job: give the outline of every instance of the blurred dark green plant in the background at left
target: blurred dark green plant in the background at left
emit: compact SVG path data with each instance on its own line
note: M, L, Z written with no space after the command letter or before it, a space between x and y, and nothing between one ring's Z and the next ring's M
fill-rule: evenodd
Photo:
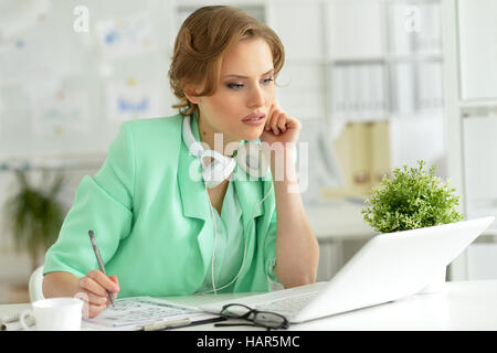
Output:
M64 179L56 174L50 182L49 173L44 171L42 185L36 189L30 184L27 170L17 169L14 172L19 188L6 201L6 218L14 236L15 250L30 254L34 271L40 253L44 254L55 242L65 217L65 207L57 200Z

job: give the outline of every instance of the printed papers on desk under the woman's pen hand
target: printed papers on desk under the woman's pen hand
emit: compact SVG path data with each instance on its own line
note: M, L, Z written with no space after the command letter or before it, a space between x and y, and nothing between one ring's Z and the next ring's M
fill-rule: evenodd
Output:
M191 322L216 318L195 307L180 306L163 299L133 297L116 300L115 307L106 308L84 324L104 330L140 330L144 325L190 319Z

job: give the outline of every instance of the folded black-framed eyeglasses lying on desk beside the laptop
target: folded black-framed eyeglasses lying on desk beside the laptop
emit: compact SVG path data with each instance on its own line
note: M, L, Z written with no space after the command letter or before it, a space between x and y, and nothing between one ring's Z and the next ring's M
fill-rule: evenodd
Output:
M288 329L289 322L284 315L271 311L258 311L244 304L231 303L221 310L224 318L243 319L252 323L215 323L214 327L251 325L267 330Z

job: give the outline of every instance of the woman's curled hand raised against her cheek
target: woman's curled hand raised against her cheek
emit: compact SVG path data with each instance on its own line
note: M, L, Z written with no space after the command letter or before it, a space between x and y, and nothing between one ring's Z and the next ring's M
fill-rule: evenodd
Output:
M266 126L261 135L261 142L297 142L302 124L284 111L275 100L267 113Z

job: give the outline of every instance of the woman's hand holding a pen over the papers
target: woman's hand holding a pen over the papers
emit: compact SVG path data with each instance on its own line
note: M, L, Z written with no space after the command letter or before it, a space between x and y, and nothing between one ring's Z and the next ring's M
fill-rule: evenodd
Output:
M88 318L95 318L112 303L107 290L114 293L114 298L117 297L120 289L116 276L107 277L99 270L92 270L77 280L77 292L83 292L78 297L83 297L81 299L85 302L84 315L87 313Z

